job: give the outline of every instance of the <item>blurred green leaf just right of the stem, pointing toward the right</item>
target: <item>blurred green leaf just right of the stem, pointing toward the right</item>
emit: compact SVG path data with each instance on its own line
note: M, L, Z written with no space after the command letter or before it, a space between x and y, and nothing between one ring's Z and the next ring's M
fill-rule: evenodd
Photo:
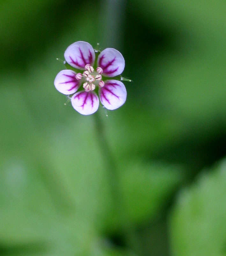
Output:
M154 219L183 178L180 166L126 160L120 163L117 216L108 216L113 229ZM115 220L115 221L114 221ZM106 224L108 226L108 224Z

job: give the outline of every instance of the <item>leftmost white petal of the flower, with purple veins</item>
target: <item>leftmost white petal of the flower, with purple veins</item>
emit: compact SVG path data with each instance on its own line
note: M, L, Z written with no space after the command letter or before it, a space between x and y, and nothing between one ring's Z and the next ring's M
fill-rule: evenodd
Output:
M80 86L75 76L76 73L70 69L61 70L54 80L56 90L66 95L75 93Z

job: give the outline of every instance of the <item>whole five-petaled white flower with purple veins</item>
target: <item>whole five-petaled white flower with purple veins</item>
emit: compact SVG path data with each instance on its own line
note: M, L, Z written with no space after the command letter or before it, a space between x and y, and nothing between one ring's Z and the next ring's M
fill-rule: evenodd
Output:
M95 113L99 107L99 98L103 106L110 110L121 107L126 101L125 85L116 79L106 80L106 77L119 76L123 72L125 60L122 54L113 48L106 48L99 53L96 61L95 57L93 47L87 42L78 41L69 45L64 52L66 62L84 72L64 69L54 81L59 92L73 94L71 104L82 115ZM84 90L78 91L80 85Z

